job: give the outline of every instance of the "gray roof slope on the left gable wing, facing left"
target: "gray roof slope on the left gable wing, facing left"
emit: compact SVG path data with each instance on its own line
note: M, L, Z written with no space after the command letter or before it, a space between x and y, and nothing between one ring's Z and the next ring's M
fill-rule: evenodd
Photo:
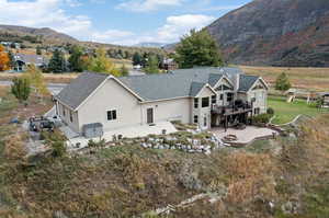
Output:
M76 110L109 74L83 72L69 85L64 88L56 99Z

